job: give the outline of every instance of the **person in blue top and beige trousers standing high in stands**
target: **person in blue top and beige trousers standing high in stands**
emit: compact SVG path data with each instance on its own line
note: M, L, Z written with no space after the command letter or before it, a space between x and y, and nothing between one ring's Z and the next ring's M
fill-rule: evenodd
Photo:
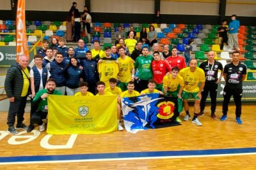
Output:
M239 20L236 20L236 15L231 16L232 21L228 24L228 46L229 50L233 48L237 51L240 51L238 46L237 32L240 27Z

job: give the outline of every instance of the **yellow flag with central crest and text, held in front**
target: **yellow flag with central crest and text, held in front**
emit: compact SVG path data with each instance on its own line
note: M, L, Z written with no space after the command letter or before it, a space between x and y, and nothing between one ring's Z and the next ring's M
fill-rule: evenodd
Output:
M117 96L48 97L49 134L100 134L117 129Z

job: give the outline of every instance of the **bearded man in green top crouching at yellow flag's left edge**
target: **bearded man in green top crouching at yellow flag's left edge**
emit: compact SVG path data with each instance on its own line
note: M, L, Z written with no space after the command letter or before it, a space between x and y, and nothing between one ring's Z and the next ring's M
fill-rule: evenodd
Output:
M55 90L56 88L56 81L53 78L49 78L46 83L46 89L39 90L36 93L31 105L31 125L27 132L31 132L35 127L33 124L39 125L39 131L42 132L45 130L43 119L47 118L48 114L48 104L47 104L47 97L49 94L54 95L61 95L61 92Z

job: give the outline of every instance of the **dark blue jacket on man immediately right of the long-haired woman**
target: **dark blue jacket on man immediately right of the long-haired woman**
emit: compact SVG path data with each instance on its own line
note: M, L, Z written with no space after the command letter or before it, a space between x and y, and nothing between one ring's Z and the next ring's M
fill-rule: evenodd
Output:
M97 82L99 80L99 74L97 72L97 63L94 60L83 59L81 60L81 66L83 66L84 81Z

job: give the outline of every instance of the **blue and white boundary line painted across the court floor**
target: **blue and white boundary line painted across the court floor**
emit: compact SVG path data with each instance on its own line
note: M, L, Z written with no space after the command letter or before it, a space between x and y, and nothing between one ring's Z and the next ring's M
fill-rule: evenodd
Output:
M256 155L256 148L0 157L0 165L97 162L117 160L179 159L195 157L227 157L239 155Z

